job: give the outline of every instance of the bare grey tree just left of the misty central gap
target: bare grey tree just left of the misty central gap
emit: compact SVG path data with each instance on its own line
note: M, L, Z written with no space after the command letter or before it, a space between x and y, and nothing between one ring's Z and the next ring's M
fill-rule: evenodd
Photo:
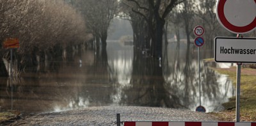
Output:
M102 49L106 48L109 24L115 16L118 1L72 0L71 3L83 14L88 32L95 37L96 48L99 49L100 40Z

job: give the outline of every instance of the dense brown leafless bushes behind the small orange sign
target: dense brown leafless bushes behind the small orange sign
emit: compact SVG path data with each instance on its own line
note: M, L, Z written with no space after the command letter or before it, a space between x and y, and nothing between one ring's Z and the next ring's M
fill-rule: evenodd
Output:
M83 16L61 0L4 0L0 2L0 63L10 59L8 49L3 48L5 38L19 38L20 48L15 51L17 69L40 62L61 58L63 51L72 51L91 37L86 32ZM72 54L69 52L67 54ZM4 69L1 75L6 75Z

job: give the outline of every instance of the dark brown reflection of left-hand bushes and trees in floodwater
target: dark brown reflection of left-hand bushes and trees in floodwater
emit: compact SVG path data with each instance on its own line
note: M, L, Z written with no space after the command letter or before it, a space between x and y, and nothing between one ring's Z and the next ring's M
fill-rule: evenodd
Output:
M104 58L93 63L93 55L87 51L84 56L74 56L71 61L57 62L60 63L58 66L54 63L54 70L49 66L49 69L40 69L36 73L27 72L24 77L13 80L13 87L6 86L6 81L1 83L1 106L10 108L10 94L13 94L13 109L28 113L109 104L111 100L107 94L113 92L113 87L104 81L106 77L102 77L106 74L103 70L107 70L102 61ZM101 68L100 72L95 70L97 67ZM97 73L102 75L99 77Z

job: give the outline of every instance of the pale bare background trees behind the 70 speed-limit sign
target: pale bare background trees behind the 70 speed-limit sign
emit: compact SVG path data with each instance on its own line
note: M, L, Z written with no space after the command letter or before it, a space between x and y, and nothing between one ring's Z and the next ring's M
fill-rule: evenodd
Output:
M228 35L219 24L216 14L216 1L184 1L179 6L176 6L170 18L168 19L174 34L177 35L177 41L180 42L181 30L187 38L187 42L191 43L191 38L195 38L193 28L195 26L203 26L205 28L204 39L208 43L208 49L212 49L213 40L218 35ZM189 44L188 44L189 46Z

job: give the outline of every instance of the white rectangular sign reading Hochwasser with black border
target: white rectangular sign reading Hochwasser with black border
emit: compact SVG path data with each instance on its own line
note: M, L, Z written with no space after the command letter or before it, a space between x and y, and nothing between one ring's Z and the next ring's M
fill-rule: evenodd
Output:
M214 59L216 62L256 63L256 38L216 37Z

